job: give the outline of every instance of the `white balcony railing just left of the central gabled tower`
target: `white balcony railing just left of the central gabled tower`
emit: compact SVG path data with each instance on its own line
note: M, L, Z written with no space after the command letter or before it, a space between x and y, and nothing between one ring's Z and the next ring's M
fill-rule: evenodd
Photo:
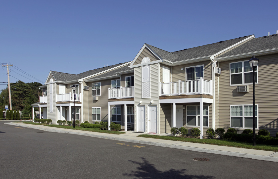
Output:
M134 98L134 86L108 88L108 99Z

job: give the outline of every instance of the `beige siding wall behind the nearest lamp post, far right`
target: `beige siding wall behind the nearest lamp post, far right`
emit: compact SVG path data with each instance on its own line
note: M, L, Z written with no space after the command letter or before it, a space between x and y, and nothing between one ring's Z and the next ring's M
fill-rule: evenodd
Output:
M278 132L278 64L277 54L256 56L258 64L258 84L255 84L255 104L258 104L259 129L266 129L273 136ZM250 57L251 58L251 57ZM230 62L248 61L250 58L220 62L222 75L219 77L220 127L230 127L230 105L252 105L253 86L249 93L237 93L237 86L230 86Z

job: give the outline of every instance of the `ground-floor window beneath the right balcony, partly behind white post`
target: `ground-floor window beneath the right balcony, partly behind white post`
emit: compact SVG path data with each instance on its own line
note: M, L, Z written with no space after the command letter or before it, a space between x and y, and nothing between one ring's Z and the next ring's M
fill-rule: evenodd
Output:
M187 126L200 126L200 105L186 106ZM209 106L203 105L203 126L209 127Z

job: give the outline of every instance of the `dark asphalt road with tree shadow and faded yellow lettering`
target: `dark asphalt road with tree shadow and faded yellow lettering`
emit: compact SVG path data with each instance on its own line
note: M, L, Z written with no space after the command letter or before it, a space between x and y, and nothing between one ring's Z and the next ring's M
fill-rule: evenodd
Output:
M276 162L46 132L4 121L0 141L0 178L5 179L271 179L278 174Z

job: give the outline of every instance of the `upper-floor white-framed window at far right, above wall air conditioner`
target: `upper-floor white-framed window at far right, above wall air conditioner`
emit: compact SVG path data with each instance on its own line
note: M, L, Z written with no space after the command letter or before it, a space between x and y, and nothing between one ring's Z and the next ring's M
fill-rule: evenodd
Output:
M255 83L257 83L257 67L255 68ZM230 63L230 84L243 85L253 83L253 70L249 62Z

